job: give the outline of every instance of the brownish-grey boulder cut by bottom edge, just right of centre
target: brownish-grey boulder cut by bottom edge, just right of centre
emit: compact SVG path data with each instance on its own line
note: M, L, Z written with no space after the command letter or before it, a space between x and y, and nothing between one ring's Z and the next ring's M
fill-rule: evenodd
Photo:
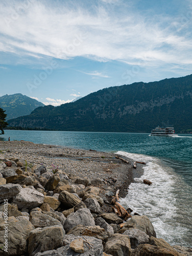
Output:
M129 237L126 234L112 234L107 239L104 251L113 256L130 256L131 244Z

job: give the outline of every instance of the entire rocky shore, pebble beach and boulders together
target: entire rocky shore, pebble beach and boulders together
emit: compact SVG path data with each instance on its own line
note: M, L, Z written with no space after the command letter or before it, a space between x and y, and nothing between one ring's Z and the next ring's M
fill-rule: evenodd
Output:
M118 203L141 163L29 141L2 141L0 153L0 255L192 255Z

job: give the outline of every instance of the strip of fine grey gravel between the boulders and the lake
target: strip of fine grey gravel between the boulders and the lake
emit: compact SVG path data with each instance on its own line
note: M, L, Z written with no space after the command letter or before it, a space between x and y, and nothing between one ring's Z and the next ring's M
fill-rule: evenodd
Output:
M133 160L125 158L129 164L116 159L114 153L106 153L92 150L67 148L57 145L35 144L30 141L1 141L0 150L4 157L16 157L20 161L46 165L47 168L58 166L59 170L70 175L87 179L100 178L104 181L102 194L105 202L109 202L107 191L115 193L119 189L119 196L124 198L128 194L130 183L134 178L143 174L142 165L137 164L134 169ZM121 156L120 156L121 157ZM111 211L111 207L104 206L104 211Z

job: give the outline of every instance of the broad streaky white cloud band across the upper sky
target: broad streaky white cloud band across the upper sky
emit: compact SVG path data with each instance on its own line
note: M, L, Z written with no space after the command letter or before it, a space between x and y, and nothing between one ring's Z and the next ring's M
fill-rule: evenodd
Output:
M121 12L106 5L118 2L122 3L118 6ZM165 13L139 13L129 9L124 1L100 3L93 12L81 1L72 4L64 0L54 5L54 1L2 0L0 51L34 58L84 56L97 61L127 61L132 65L145 55L150 66L158 66L159 61L191 64L190 22L183 24L181 16ZM87 74L108 77L99 72Z

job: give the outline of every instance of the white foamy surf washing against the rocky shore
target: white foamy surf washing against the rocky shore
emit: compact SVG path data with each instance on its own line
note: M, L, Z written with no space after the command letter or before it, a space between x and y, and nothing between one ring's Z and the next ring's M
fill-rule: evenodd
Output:
M117 154L147 163L143 165L144 174L130 184L121 204L148 216L158 238L171 245L191 246L191 187L160 159L121 151ZM144 184L143 179L150 180L152 185Z

